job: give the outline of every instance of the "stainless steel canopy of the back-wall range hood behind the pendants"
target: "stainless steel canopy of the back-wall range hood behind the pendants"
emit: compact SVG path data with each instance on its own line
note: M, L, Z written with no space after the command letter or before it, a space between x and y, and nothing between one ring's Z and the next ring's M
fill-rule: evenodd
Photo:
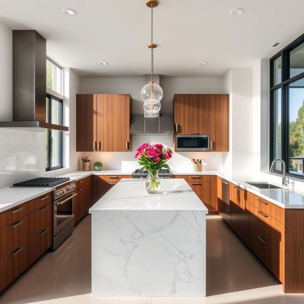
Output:
M158 117L145 117L132 114L130 133L134 135L171 135L174 133L173 115L160 114Z

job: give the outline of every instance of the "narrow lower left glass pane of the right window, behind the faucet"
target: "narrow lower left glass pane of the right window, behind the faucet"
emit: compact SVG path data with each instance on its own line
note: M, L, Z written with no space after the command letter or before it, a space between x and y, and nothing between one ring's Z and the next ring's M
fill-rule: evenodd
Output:
M272 92L272 153L273 159L281 158L282 155L282 89ZM281 171L281 162L275 163L275 170Z

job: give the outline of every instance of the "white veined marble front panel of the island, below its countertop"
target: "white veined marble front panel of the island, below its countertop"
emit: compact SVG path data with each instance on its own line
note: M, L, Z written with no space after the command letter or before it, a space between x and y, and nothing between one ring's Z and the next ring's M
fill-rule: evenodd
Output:
M206 296L205 212L94 212L92 295Z

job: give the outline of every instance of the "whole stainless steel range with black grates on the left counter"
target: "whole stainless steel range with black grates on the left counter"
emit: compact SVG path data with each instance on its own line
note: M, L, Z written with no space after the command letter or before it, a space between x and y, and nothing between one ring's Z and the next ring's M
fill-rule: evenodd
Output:
M74 193L76 184L68 177L35 178L12 185L12 187L50 187L53 209L53 242L55 250L74 231Z

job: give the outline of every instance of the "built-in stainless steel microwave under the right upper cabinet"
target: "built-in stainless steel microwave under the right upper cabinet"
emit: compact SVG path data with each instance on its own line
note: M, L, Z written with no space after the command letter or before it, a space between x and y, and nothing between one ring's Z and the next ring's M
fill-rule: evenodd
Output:
M209 135L178 134L176 135L176 151L209 151Z

